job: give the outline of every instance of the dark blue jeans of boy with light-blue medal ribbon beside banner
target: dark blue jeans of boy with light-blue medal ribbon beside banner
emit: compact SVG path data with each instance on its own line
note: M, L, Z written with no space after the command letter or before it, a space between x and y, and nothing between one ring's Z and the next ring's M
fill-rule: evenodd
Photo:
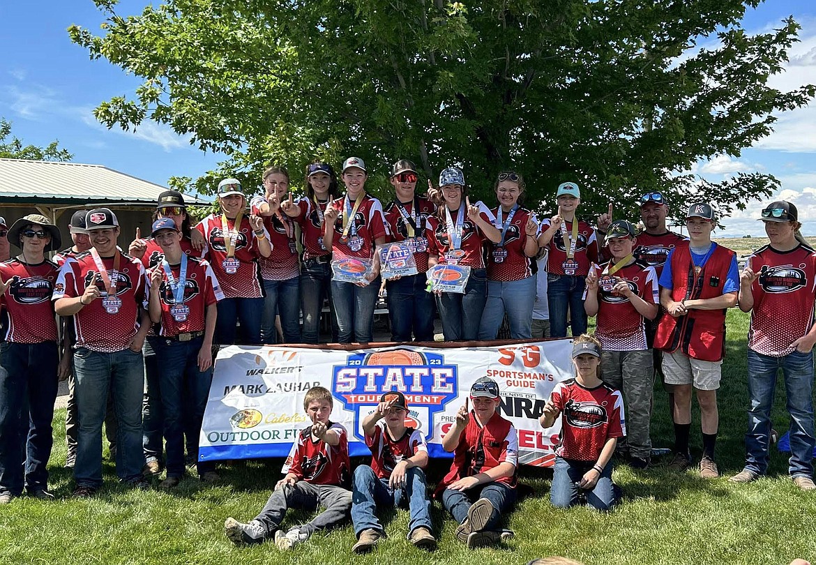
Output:
M198 370L198 352L203 337L190 341L157 340L156 358L162 367L159 387L164 408L164 438L167 452L167 476L184 475L184 433L198 434L212 383L212 368ZM186 401L192 410L185 411ZM214 463L198 463L198 474L215 470Z

